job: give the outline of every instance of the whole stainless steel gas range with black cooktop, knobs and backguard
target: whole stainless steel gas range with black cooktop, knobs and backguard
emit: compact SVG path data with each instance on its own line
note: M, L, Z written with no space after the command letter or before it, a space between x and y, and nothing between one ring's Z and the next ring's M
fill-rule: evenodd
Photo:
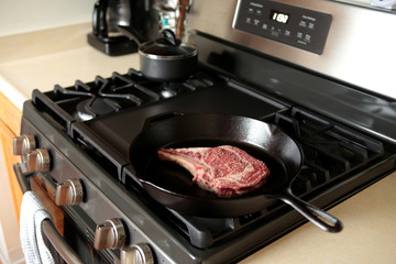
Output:
M395 36L380 26L395 20L332 1L194 1L193 76L156 82L130 69L34 90L15 139L24 157L16 176L26 188L26 178L37 179L62 205L65 240L85 262L238 262L305 219L283 202L227 218L167 209L136 178L132 142L174 112L273 123L304 153L292 191L331 208L395 170L392 69L372 66L395 59ZM380 36L385 47L373 53ZM358 63L362 54L370 65Z

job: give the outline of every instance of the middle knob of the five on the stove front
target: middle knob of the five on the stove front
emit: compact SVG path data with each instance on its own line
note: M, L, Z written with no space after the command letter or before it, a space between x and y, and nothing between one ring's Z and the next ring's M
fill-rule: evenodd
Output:
M68 179L57 184L55 189L55 204L57 206L73 206L82 202L84 190L79 179Z

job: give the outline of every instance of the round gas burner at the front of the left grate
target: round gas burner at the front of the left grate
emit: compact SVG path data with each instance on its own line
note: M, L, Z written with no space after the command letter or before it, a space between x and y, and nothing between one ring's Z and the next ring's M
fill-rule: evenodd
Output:
M76 107L76 119L80 121L88 121L98 116L118 112L121 106L108 98L90 98L79 102Z

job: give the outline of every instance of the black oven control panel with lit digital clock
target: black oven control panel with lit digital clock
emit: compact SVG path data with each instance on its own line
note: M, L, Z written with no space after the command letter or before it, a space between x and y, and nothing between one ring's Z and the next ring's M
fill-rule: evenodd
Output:
M233 28L322 54L332 16L267 0L239 0Z

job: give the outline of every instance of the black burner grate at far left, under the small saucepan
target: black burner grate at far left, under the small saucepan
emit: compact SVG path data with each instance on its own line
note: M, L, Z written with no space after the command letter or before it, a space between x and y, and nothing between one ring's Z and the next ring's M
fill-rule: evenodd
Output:
M178 82L156 82L146 79L143 74L130 69L128 74L113 73L110 78L97 76L94 81L77 80L72 87L56 85L52 91L33 92L33 101L41 105L66 130L75 121L88 121L101 116L119 112L122 109L140 107L164 100L183 92L216 84L219 78L198 70L190 78Z

